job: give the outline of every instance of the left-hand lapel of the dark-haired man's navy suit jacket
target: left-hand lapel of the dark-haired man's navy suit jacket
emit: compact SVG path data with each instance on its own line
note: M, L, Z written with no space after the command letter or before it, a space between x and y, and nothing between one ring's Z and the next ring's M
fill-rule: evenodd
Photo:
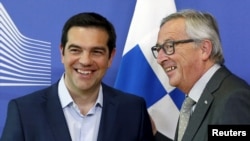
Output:
M66 119L58 97L58 83L52 85L46 93L47 102L44 111L47 114L48 123L51 127L55 141L71 141Z

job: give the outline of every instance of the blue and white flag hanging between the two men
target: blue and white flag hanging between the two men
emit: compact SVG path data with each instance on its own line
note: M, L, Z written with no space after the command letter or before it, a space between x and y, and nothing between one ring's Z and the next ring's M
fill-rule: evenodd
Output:
M174 0L137 0L115 87L145 98L159 132L174 138L184 95L168 84L153 57L163 17L176 11Z

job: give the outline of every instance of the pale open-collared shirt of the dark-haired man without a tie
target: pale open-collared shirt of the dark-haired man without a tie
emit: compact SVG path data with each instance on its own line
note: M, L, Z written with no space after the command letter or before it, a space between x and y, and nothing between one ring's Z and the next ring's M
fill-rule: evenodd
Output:
M81 114L70 96L64 83L64 75L59 81L58 92L72 141L96 141L103 106L102 86L100 86L96 103L86 115Z

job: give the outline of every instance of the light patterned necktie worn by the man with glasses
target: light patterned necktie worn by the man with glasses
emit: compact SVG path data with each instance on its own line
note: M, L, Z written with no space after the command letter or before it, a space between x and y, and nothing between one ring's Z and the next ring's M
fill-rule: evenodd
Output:
M195 104L195 101L190 97L186 97L184 103L182 104L179 118L179 131L178 131L178 141L182 140L182 136L186 130L188 120L191 114L192 106Z

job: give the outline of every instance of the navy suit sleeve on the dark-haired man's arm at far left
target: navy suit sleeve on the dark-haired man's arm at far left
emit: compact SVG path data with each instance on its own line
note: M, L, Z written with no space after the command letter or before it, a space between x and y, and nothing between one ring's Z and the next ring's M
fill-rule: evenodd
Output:
M8 104L6 122L0 141L24 141L20 114L14 100Z

